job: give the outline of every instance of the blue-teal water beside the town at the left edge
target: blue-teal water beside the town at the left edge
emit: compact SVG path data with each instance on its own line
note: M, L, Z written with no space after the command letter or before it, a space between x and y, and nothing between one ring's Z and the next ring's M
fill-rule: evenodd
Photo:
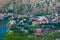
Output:
M4 40L4 37L7 34L7 23L8 19L0 20L0 40Z

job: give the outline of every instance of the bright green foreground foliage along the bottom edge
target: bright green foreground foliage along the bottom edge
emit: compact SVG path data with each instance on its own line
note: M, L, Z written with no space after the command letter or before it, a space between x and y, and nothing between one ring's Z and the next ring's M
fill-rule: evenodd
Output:
M9 33L5 40L56 40L56 38L60 38L59 32L52 32L49 34L39 34L39 35L30 35L29 33L25 32L18 32L14 31Z

